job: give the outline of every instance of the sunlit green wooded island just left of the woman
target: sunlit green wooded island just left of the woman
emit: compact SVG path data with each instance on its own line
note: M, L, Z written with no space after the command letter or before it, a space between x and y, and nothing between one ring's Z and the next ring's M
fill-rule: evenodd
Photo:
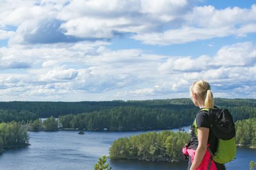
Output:
M186 132L170 130L147 132L138 136L115 140L109 149L111 159L137 159L179 162L183 160L181 148L189 141Z

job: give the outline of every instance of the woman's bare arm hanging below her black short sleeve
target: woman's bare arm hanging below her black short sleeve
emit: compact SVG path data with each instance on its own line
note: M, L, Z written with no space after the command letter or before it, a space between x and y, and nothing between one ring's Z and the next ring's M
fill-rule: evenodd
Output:
M205 151L207 150L207 142L209 136L209 128L197 128L198 147L195 151L195 158L193 160L190 170L196 170L201 164Z

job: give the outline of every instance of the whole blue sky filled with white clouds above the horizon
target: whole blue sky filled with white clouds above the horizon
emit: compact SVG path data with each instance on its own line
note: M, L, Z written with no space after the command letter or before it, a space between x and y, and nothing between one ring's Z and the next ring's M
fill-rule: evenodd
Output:
M256 2L0 0L0 101L256 99Z

